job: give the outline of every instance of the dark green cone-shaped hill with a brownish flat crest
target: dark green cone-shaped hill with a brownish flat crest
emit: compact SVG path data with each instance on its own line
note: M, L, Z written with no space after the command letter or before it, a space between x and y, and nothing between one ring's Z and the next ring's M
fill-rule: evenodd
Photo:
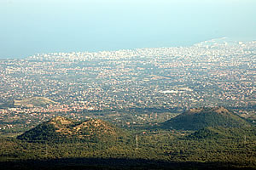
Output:
M204 127L250 127L250 123L224 107L190 109L160 125L166 129L199 130Z

